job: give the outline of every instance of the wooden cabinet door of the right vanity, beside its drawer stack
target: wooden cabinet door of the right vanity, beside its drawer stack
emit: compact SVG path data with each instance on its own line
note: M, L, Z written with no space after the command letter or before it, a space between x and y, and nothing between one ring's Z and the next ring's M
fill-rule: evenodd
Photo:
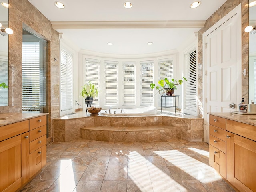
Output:
M256 142L227 132L227 180L240 191L256 191Z

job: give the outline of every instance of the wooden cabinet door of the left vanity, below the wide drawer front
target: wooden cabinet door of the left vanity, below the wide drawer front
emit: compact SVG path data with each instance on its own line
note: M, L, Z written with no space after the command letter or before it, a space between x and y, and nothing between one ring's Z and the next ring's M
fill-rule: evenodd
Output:
M21 187L22 136L0 142L0 191L12 192Z

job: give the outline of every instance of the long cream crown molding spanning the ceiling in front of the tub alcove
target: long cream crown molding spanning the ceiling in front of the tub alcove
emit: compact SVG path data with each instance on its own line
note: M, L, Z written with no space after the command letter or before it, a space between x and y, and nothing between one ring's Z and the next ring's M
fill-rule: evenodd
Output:
M52 21L54 29L203 28L206 21Z

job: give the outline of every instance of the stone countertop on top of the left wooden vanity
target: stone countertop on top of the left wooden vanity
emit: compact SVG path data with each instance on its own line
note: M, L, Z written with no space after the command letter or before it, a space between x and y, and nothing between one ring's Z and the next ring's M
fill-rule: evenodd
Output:
M1 113L0 126L28 120L35 117L48 115L49 113Z

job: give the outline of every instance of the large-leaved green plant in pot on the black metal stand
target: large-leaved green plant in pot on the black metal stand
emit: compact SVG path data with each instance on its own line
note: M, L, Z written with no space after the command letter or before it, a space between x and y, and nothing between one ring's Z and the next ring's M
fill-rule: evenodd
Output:
M178 81L176 79L168 80L168 78L165 78L164 80L161 79L158 81L158 86L156 86L154 83L151 83L150 87L152 89L156 88L159 94L166 93L166 95L172 95L174 94L174 89L177 90L177 85L181 85L183 80L187 81L184 77Z

